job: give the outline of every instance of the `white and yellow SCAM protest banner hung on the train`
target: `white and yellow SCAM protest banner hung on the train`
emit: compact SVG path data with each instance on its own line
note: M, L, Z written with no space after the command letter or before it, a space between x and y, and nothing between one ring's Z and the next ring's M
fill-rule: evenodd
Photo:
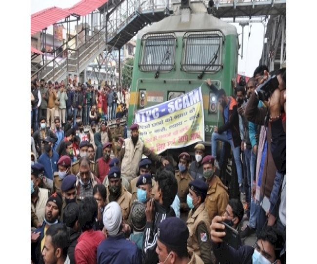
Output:
M170 101L138 110L139 139L156 154L205 138L201 87Z

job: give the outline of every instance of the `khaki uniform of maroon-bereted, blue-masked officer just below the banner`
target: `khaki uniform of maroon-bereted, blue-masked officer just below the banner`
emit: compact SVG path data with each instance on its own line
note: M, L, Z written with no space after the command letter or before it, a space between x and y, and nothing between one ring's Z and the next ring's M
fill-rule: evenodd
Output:
M183 178L180 177L180 172L176 171L175 177L178 184L177 195L180 201L180 218L183 221L186 221L189 212L189 207L187 205L187 195L189 194L188 184L193 180L193 178L190 176L188 171Z

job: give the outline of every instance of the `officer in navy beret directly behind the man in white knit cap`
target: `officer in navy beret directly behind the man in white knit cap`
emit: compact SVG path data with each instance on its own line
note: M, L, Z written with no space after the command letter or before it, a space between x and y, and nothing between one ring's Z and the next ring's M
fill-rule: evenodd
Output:
M127 220L130 213L131 194L124 188L121 172L118 167L112 167L108 174L107 204L116 201L120 205L122 218Z

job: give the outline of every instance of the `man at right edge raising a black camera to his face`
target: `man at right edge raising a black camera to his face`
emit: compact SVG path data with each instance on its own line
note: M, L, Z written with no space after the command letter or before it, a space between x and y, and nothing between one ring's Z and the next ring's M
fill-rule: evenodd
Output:
M267 150L265 154L265 161L264 161L264 166L263 166L263 172L262 172L262 177L261 177L261 187L260 187L260 197L259 197L259 202L261 204L264 196L267 198L271 197L271 193L273 190L274 186L274 181L276 176L280 177L281 175L278 173L275 162L273 160L273 155L271 150L271 144L272 144L272 134L271 134L271 122L268 122L269 120L277 120L281 119L282 126L284 131L286 131L286 116L284 113L284 92L286 90L286 69L278 69L277 71L273 72L271 75L276 75L277 77L277 82L278 85L276 88L272 88L272 84L274 82L269 82L266 83L266 87L270 87L271 89L277 89L277 92L279 91L280 93L280 100L275 104L275 110L274 112L270 112L271 109L273 110L273 104L271 104L269 101L264 102L264 104L267 105L267 108L258 108L258 102L259 102L259 97L261 99L265 98L263 96L263 87L259 86L256 91L254 91L249 99L249 102L246 105L246 108L244 110L244 115L247 118L248 121L251 121L253 123L262 125L262 126L269 126L269 128L266 129L266 142L267 142ZM268 72L265 70L264 71L264 76L261 80L259 80L259 84L263 84L267 79L269 78ZM271 79L272 80L272 79ZM271 85L271 86L270 86ZM278 114L278 110L280 111ZM273 114L278 114L278 115L273 115ZM277 207L276 207L277 208ZM266 221L266 212L262 207L259 207L258 210L258 217L257 217L257 234L259 234L259 231L263 227L264 223ZM269 220L269 223L271 220Z

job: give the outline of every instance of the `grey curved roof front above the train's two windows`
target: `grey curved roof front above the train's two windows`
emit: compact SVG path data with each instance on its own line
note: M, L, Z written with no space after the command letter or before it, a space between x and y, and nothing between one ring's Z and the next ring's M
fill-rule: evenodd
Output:
M171 15L166 17L161 21L140 30L137 38L141 39L146 33L152 32L176 32L177 36L183 36L183 33L177 34L177 32L206 30L220 30L225 36L237 35L237 28L234 25L223 22L222 20L207 13L191 14L189 22L181 22L180 20L180 15Z

